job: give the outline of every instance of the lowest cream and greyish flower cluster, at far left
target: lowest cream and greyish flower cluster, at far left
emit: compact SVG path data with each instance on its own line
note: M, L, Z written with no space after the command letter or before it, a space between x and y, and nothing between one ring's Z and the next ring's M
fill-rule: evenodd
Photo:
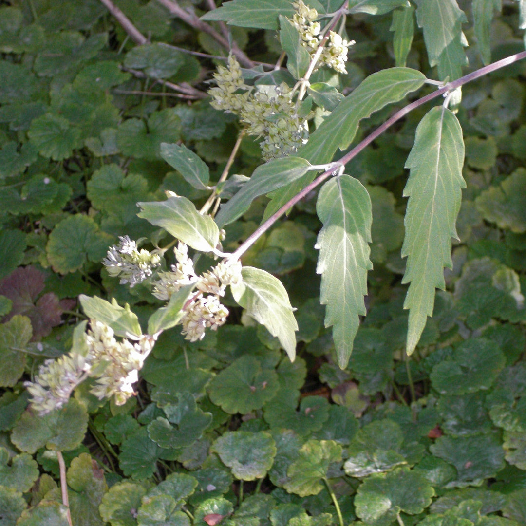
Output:
M144 335L137 343L114 338L113 330L100 321L90 321L85 356L70 352L57 360L46 360L34 382L24 382L31 394L31 406L46 414L64 406L75 387L88 377L97 378L91 392L100 400L115 396L122 405L134 394L131 387L138 380L138 370L154 346L155 339Z

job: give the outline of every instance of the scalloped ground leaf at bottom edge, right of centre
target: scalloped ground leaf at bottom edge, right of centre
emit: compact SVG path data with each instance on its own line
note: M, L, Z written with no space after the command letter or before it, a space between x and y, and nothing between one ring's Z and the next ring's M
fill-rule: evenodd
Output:
M434 490L420 473L398 468L368 477L355 497L356 514L367 524L387 526L401 511L422 513L431 504Z

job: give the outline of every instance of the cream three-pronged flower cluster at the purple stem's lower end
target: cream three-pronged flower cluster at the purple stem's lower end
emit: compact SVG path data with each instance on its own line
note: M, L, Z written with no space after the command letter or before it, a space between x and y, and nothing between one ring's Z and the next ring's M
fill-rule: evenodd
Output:
M170 272L159 272L153 294L156 298L168 301L181 287L195 282L197 292L185 305L181 332L187 340L201 340L207 328L217 330L225 323L228 309L221 304L219 298L225 295L227 285L235 285L241 281L241 263L219 263L203 275L197 276L193 261L188 258L188 247L179 242L174 252L177 264L171 266Z

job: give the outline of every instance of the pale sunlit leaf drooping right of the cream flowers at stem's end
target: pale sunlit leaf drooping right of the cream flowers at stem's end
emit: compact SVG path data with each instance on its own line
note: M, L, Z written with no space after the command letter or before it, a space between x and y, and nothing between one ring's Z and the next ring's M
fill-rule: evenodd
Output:
M272 336L277 336L289 358L294 360L298 324L285 287L278 278L259 268L243 267L241 276L243 281L239 285L230 286L234 299Z

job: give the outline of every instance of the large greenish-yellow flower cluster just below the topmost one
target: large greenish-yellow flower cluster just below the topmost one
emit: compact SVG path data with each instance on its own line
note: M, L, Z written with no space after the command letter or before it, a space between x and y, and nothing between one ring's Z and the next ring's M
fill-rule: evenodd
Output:
M211 105L236 113L248 124L250 135L264 137L261 149L266 160L293 154L307 142L307 120L298 115L292 89L285 83L246 85L233 55L228 57L228 68L219 66L214 78L217 87L208 92L214 98Z

